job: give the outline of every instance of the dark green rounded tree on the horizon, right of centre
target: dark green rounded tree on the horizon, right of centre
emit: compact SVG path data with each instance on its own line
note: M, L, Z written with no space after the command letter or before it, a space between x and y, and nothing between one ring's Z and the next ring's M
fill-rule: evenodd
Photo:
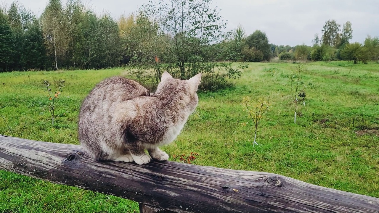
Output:
M263 55L263 60L270 60L270 44L268 43L266 33L263 33L260 30L254 31L253 34L246 38L246 44L249 48L254 48L255 51L260 51Z

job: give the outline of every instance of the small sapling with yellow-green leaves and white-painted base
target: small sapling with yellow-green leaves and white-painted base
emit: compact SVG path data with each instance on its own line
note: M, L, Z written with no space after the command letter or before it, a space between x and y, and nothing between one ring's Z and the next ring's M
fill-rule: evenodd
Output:
M265 99L261 98L258 100L258 103L254 104L253 101L251 101L250 97L244 97L243 105L245 110L249 113L250 118L252 119L254 123L254 142L253 146L258 145L256 139L257 139L257 130L258 130L258 124L260 120L262 119L262 115L268 110L270 107L270 104Z

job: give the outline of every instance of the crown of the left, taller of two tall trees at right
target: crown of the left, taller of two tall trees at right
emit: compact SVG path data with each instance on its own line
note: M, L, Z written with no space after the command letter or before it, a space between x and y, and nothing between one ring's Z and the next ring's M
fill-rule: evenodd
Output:
M330 47L338 47L341 42L340 37L340 27L335 20L327 20L323 27L322 41L323 44L329 45Z

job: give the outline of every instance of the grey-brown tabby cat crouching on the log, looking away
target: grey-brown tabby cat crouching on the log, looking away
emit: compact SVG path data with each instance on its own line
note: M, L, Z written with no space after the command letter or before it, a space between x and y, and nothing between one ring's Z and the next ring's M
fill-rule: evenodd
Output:
M174 141L199 98L201 73L188 80L164 72L155 93L121 76L106 78L81 103L78 138L94 160L168 160L159 146ZM145 153L147 149L149 155Z

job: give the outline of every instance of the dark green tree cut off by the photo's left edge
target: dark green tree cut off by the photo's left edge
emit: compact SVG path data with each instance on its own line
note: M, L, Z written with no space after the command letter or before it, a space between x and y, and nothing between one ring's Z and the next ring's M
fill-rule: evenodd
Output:
M0 71L9 69L13 63L13 35L8 18L0 10Z

